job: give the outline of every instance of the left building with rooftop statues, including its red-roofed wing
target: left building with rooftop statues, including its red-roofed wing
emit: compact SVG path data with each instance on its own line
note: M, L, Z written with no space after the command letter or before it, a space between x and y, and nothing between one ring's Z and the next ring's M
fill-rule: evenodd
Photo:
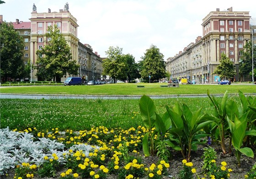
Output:
M60 32L63 34L68 45L71 47L72 60L77 64L80 64L79 75L80 77L93 79L94 74L96 79L101 79L102 74L102 59L95 52L92 52L90 45L83 45L79 42L77 37L78 24L74 16L69 12L69 5L66 4L64 9L59 12L48 12L38 13L37 8L33 5L31 18L29 22L23 22L16 19L13 22L14 28L20 33L25 41L25 52L24 52L24 63L27 64L30 60L32 62L32 81L37 81L37 55L38 49L44 47L48 39L46 33L48 26L57 25ZM94 70L92 70L92 63ZM93 73L92 73L93 71ZM67 77L74 76L72 74L66 75ZM64 81L65 77L61 79ZM86 80L86 79L85 79Z

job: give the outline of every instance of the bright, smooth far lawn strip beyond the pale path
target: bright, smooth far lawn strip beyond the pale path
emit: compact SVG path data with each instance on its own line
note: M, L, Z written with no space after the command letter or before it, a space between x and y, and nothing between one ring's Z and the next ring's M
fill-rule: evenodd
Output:
M144 88L137 88L144 85ZM0 93L15 94L59 94L59 95L181 95L181 94L236 94L238 90L243 93L255 93L256 85L188 85L180 84L179 88L163 88L162 84L104 84L104 85L82 85L82 86L29 86L0 88Z

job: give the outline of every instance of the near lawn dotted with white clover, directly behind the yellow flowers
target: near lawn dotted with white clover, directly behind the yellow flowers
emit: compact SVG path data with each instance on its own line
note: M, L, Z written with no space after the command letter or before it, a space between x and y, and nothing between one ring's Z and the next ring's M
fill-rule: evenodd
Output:
M219 98L218 98L219 99ZM158 114L174 102L187 104L192 112L203 106L203 112L213 112L209 98L171 98L154 100ZM107 128L143 126L139 114L139 100L1 100L1 128L24 130L37 127L38 130L72 129L75 131L91 129L92 126Z

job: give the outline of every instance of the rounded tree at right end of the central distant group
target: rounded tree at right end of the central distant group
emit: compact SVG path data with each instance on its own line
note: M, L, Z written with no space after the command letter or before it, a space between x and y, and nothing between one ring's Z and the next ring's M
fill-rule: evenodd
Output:
M141 59L140 75L142 78L149 79L150 75L150 80L154 81L166 77L164 55L155 45L152 44Z

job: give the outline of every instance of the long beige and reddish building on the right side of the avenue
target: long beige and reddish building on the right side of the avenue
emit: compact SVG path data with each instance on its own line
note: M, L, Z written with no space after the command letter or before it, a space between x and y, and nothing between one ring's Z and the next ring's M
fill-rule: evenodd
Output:
M203 18L203 37L167 59L166 69L172 79L187 78L197 83L213 83L219 76L212 74L220 63L221 53L225 53L233 62L236 75L231 80L245 80L239 76L240 51L251 39L250 18L248 11L210 12Z

